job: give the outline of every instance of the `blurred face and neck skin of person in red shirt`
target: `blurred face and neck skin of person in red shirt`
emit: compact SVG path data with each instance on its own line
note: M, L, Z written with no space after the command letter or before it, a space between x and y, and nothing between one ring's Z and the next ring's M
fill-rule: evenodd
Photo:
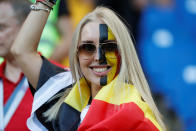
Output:
M12 6L9 3L0 3L0 56L6 59L4 74L12 82L18 81L21 73L10 53L10 48L20 27Z

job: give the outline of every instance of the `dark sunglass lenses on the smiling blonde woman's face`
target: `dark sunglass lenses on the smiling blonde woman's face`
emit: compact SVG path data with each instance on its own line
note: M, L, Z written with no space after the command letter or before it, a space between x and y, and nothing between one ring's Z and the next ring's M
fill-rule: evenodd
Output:
M94 44L82 44L78 47L78 53L93 54L96 52L96 46ZM116 42L101 43L100 48L104 52L115 52L118 51Z

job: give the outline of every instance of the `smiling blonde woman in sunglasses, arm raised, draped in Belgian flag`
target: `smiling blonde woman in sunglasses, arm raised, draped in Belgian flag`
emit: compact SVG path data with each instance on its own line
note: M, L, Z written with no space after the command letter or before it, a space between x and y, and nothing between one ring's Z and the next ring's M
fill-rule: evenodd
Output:
M165 130L127 27L110 9L98 7L80 21L70 48L71 73L37 54L54 3L38 0L31 7L12 47L36 89L29 129Z

